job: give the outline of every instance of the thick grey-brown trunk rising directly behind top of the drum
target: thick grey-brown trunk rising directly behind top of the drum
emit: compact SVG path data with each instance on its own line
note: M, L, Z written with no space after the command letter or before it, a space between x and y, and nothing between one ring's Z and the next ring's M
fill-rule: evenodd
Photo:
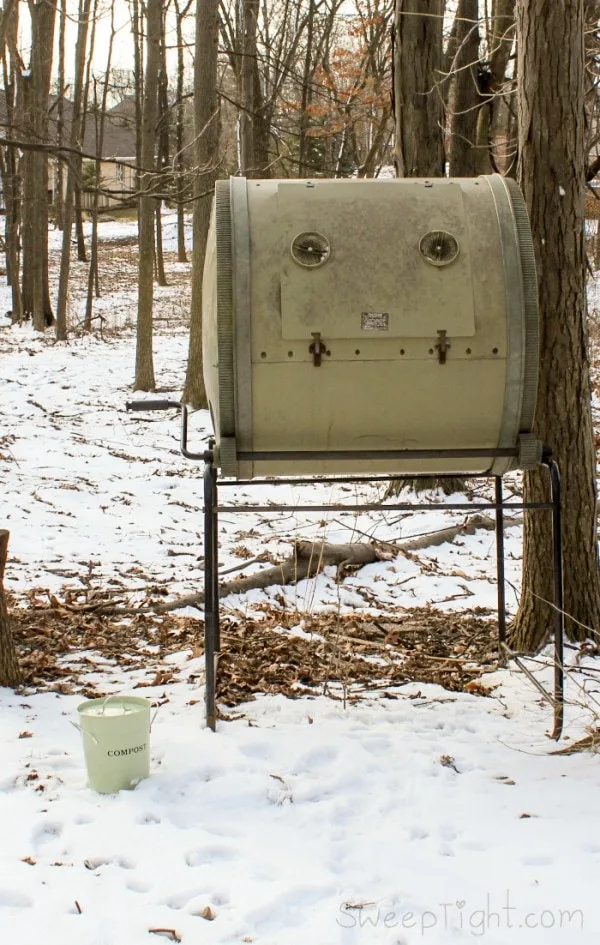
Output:
M396 0L394 99L398 177L444 173L443 0Z

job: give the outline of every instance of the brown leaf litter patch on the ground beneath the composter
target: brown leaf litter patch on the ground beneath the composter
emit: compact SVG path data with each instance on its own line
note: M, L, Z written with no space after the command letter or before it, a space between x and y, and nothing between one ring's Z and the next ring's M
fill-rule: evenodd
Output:
M99 596L96 591L95 600ZM13 602L11 618L27 691L100 697L105 694L102 679L116 671L135 671L138 680L141 675L137 687L163 686L176 682L179 671L165 662L167 657L203 654L200 619L100 615L85 592L62 602L31 592L26 606ZM218 700L230 707L260 693L292 698L323 693L353 700L409 682L484 696L489 690L480 677L496 668L496 633L495 622L481 608L443 613L421 607L385 617L264 608L254 615L224 617Z

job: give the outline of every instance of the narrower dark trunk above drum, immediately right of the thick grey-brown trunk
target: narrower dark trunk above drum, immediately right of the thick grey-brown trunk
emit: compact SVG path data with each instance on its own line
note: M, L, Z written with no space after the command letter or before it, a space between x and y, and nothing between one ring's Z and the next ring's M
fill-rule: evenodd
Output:
M457 52L454 60L450 177L477 174L479 97L479 0L459 0L456 11Z

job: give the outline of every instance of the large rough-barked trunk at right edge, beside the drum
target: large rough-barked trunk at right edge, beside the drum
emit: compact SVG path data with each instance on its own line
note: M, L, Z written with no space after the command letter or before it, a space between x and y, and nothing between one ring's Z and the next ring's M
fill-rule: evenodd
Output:
M552 447L562 474L565 611L573 618L567 630L584 639L600 626L600 580L585 298L581 0L518 0L517 45L519 179L531 217L541 316L535 433ZM527 474L525 501L546 500L544 486L543 474ZM552 600L551 562L549 515L529 515L514 626L519 650L538 650L552 626L544 603Z

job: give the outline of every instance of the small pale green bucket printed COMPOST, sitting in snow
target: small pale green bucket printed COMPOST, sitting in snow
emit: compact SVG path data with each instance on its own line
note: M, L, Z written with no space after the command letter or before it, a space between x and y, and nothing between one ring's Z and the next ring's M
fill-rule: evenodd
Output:
M138 696L89 699L77 706L92 790L116 794L148 777L150 708L151 703Z

